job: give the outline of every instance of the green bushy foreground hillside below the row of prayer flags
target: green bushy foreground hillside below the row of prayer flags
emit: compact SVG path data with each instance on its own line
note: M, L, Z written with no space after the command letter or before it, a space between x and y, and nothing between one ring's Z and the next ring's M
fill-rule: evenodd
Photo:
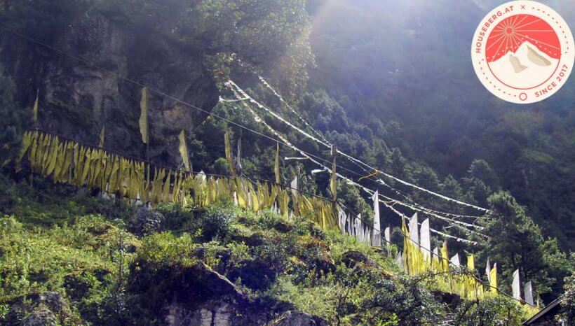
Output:
M0 183L3 325L164 325L212 312L229 325L284 325L294 311L330 325L526 317L501 296L477 304L436 292L431 276L400 271L395 247L370 248L303 218L226 203L149 210L38 178Z

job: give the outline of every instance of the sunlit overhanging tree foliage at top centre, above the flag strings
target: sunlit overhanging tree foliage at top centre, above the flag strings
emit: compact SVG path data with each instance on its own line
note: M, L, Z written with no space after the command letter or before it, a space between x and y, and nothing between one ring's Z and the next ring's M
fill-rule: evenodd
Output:
M304 0L91 2L107 17L196 50L219 83L234 66L269 71L295 92L305 85L306 66L313 62Z

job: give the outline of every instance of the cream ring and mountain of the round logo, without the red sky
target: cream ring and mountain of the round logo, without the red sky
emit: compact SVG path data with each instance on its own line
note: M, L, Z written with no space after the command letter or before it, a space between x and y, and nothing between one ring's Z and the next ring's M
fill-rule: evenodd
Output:
M514 15L533 15L552 27L561 45L560 58L548 56L534 45L536 40L528 39L487 62L487 39L499 22ZM575 45L567 22L555 10L535 1L510 1L480 22L473 34L471 57L475 73L489 92L515 104L532 104L552 96L565 84L575 62Z

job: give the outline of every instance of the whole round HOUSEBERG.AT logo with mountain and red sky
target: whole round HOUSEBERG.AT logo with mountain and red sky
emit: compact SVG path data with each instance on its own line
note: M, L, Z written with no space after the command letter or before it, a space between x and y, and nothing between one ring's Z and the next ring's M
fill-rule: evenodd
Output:
M480 22L471 58L489 92L505 101L531 104L565 84L575 62L575 45L569 26L555 10L535 1L511 1Z

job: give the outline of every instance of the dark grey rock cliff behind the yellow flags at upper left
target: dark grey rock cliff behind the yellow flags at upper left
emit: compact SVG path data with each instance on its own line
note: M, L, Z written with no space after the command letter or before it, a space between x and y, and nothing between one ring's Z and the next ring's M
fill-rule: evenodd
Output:
M0 40L0 65L15 80L22 108L32 107L39 90L41 129L97 144L105 126L107 148L144 157L142 87L127 78L150 87L151 160L172 165L181 160L177 134L189 134L206 115L170 97L206 111L217 104L215 82L203 71L203 49L169 36L90 13L54 35L50 45L88 63L11 34Z

